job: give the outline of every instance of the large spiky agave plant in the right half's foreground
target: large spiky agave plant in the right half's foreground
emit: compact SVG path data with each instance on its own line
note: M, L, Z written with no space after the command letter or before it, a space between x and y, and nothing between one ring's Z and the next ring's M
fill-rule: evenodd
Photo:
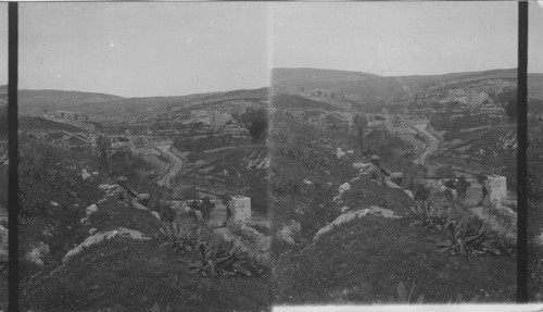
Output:
M451 254L501 254L496 234L476 216L460 217L446 226L449 238L438 242L438 250Z

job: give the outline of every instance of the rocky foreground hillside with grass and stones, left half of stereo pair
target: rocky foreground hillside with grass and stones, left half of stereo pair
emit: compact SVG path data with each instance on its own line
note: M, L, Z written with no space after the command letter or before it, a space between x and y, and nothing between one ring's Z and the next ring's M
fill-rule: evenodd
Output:
M21 145L24 309L269 309L268 264L258 245L265 238L256 229L215 234L198 214L176 213L164 204L167 191L146 174L153 166L129 151L108 157L104 170L88 151L26 135ZM118 197L119 175L134 191L150 194L147 207Z

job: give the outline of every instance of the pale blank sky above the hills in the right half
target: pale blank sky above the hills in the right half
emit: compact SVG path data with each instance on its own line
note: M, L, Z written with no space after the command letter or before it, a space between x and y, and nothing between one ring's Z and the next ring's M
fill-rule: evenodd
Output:
M276 67L386 76L517 67L518 5L514 1L273 7ZM543 73L543 63L532 65Z

